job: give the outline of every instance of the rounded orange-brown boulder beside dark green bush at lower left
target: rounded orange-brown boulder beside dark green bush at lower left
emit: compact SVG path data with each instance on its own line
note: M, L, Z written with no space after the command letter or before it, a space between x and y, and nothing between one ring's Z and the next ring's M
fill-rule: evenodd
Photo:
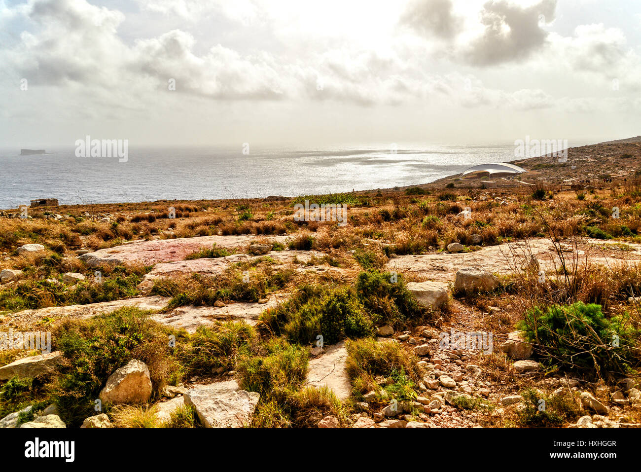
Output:
M149 369L140 360L130 360L107 379L99 398L103 403L143 403L151 396Z

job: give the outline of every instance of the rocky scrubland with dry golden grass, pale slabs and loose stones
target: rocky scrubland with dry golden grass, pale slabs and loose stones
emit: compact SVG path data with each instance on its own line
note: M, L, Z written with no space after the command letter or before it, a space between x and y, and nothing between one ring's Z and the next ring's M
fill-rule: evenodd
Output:
M635 147L633 140L573 148L570 160L593 162L603 157L599 153L622 152L637 158ZM65 423L69 406L45 393L78 362L77 352L58 344L55 333L99 333L104 326L91 323L129 307L146 310L140 313L158 326L153 329L165 330L160 332L171 349L178 342L203 350L190 355L206 367L181 365L171 374L158 367L151 348L135 344L138 350L122 357L127 362L103 377L94 366L99 394L85 401L99 401L104 410L87 415L81 427L179 427L185 411L193 417L181 416L189 426L180 427L641 426L638 357L626 361L626 372L574 369L546 358L549 346L515 327L534 306L597 302L607 319L629 316L632 331L625 336L638 339L639 299L634 290L628 293L641 282L641 194L635 188L619 182L617 189L595 189L587 198L561 188L542 196L520 187L371 192L353 203L346 227L292 223L294 202L279 198L190 208L195 204L176 203L185 208L174 221L162 217L158 207L164 203L155 210L133 204L61 208L27 221L4 212L0 334L53 330L54 350L6 350L0 358L0 426L80 426ZM610 216L615 206L621 210L617 221ZM373 344L347 335L315 341L317 333L326 339L333 334L314 323L326 326L324 310L351 296L352 289L341 290L358 287L363 274L399 283L394 290L406 291L420 316L395 315L403 310L394 298L398 292L374 301L362 296L358 303L366 308L360 313L374 323L363 339ZM570 293L568 284L574 284L571 296L562 298L561 292ZM317 309L308 299L299 301L301 287L336 291L312 296L326 303L320 315L304 321L318 331L310 338L303 326L294 339L296 319L285 323L276 316L307 313L303 302ZM341 313L361 310L350 300L340 305ZM194 344L203 327L213 337L238 331L231 341L216 338L220 344L212 349ZM463 344L444 342L460 335ZM111 336L101 342L129 342L122 332ZM247 345L232 349L243 336ZM476 344L470 345L470 336ZM300 369L291 364L269 371L265 384L256 372L276 362L270 356L282 346L274 343L304 360ZM385 355L367 364L367 350L372 359L378 351ZM169 357L178 359L176 352ZM278 423L280 416L287 419Z

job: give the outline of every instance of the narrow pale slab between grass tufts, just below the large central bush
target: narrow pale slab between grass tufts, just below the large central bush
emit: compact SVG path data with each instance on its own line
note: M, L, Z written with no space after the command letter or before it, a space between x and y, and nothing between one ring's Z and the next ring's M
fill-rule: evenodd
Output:
M351 382L345 370L347 362L347 349L345 341L337 342L332 346L324 346L325 353L320 357L310 360L305 386L329 387L340 400L351 395Z

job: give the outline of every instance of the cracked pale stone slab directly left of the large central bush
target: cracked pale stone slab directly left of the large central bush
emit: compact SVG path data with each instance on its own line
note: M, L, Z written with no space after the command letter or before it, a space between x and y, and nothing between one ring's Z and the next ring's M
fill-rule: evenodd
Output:
M267 303L256 302L235 302L224 307L178 307L169 313L161 313L151 316L152 319L173 326L176 329L184 329L188 333L194 333L199 326L212 325L215 321L245 321L249 325L256 325L258 317L267 308L276 307L278 303L287 300L286 296L273 294L269 296Z

